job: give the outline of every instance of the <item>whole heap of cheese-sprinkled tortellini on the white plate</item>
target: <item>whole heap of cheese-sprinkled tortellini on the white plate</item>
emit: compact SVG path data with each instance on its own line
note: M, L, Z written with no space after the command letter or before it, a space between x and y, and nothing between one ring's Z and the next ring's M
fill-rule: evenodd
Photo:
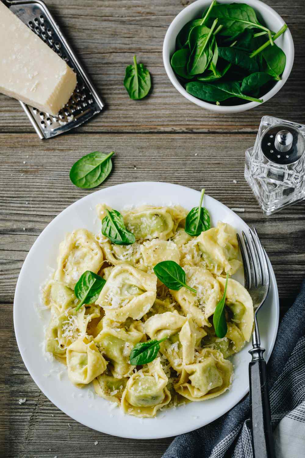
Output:
M101 222L106 209L111 210L96 206ZM42 289L51 316L45 350L67 365L76 387L93 382L97 396L126 414L154 417L160 409L224 393L233 379L228 358L251 337L252 300L232 278L224 338L216 336L213 325L226 274L241 266L235 230L219 221L192 237L185 232L187 213L180 206L151 205L122 211L136 238L131 245L115 245L101 231L75 229L60 243L57 269ZM163 261L179 264L185 284L196 293L163 284L154 273ZM76 311L74 288L86 270L106 283L96 300ZM132 365L134 346L149 339L161 340L156 358Z

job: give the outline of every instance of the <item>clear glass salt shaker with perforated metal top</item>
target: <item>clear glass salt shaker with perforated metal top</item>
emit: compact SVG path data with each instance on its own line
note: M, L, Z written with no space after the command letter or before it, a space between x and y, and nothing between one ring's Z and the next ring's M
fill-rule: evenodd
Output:
M305 199L305 125L263 116L245 178L266 215Z

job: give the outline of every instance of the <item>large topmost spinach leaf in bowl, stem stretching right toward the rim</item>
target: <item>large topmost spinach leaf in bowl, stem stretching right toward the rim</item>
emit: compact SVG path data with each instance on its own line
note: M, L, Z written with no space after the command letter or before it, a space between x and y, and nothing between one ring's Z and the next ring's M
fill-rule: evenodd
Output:
M209 19L218 19L219 24L224 26L220 35L235 37L247 28L260 28L271 36L269 29L258 22L253 8L245 3L214 5Z

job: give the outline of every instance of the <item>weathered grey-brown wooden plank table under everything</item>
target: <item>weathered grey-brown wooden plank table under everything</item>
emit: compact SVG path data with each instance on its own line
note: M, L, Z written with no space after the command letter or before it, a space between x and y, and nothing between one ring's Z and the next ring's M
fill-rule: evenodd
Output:
M69 180L71 165L82 155L96 150L117 152L112 174L102 187L140 180L168 181L197 190L204 186L210 196L228 207L245 208L241 217L255 224L273 264L281 315L292 304L304 278L305 204L266 218L243 175L245 150L254 143L262 115L305 123L304 2L265 2L289 25L295 46L294 68L272 100L232 115L218 115L191 104L166 76L163 38L174 16L189 3L48 1L106 103L101 114L66 135L39 140L19 103L0 94L3 457L155 458L162 456L172 440L127 440L80 425L40 392L16 345L12 303L22 262L47 224L91 192L76 188ZM142 101L129 100L123 87L125 67L132 63L134 54L149 68L153 80L151 95ZM20 405L18 399L24 397L27 401Z

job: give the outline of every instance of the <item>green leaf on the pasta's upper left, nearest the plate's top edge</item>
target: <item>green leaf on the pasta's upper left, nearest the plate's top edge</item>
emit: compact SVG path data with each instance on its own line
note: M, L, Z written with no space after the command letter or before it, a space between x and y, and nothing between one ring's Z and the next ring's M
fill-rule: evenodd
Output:
M102 219L102 234L115 245L132 245L135 236L125 228L123 216L117 210L107 210Z

